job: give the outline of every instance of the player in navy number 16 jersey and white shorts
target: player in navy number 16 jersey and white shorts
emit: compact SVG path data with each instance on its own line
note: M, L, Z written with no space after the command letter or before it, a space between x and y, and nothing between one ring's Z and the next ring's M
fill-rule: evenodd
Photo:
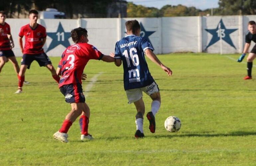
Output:
M125 26L127 36L116 43L115 54L113 55L112 53L111 55L115 57L116 66L120 66L123 63L124 90L129 101L128 103L134 103L137 109L135 137L140 138L144 137L143 116L145 106L142 92L145 92L153 100L151 111L147 113L149 129L152 133L155 132L155 115L161 104L159 88L149 72L145 54L151 61L159 65L168 76L172 75L172 70L160 62L153 53L150 42L146 38L140 37L140 24L137 20L127 21Z

